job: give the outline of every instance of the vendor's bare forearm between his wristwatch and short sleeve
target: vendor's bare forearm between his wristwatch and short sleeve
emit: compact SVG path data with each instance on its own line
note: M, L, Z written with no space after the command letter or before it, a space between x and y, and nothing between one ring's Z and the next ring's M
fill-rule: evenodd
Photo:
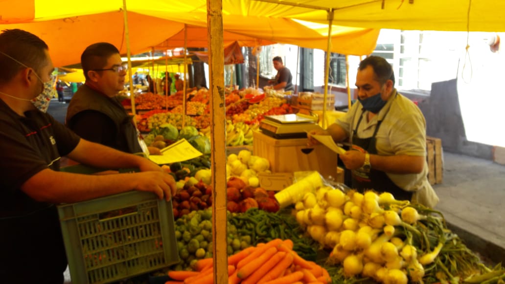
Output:
M372 168L391 174L419 174L423 171L424 156L381 156L370 155Z

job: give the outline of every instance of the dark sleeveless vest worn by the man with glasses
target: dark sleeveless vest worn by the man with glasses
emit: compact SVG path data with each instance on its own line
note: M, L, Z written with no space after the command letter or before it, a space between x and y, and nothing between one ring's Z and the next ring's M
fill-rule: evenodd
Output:
M67 109L67 127L73 130L75 115L81 111L95 110L106 115L116 127L115 145L107 145L117 150L128 153L140 153L142 148L138 143L137 129L123 105L117 98L110 98L101 94L85 84L79 87L72 97ZM90 125L89 127L93 127Z

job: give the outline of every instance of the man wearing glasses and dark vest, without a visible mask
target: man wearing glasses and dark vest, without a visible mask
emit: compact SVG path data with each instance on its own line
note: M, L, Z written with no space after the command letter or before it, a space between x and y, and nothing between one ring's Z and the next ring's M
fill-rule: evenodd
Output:
M124 89L127 65L107 42L89 45L81 55L86 82L72 97L67 127L80 137L127 153L145 152L138 131L117 94Z

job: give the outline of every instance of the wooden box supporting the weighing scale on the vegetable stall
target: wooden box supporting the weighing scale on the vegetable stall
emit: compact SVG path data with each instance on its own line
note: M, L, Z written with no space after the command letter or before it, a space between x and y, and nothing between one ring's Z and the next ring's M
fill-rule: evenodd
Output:
M337 154L324 145L316 145L308 154L307 138L275 139L260 131L254 132L252 152L270 162L273 173L318 171L324 178L339 177Z

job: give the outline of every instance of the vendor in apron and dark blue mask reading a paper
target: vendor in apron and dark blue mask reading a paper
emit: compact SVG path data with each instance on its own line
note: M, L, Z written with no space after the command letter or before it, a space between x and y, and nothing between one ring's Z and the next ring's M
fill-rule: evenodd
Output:
M429 207L438 202L428 182L426 121L421 110L396 92L391 65L378 56L360 63L358 102L325 131L352 146L340 159L352 172L352 188L390 192L398 200ZM311 144L315 144L314 139Z

